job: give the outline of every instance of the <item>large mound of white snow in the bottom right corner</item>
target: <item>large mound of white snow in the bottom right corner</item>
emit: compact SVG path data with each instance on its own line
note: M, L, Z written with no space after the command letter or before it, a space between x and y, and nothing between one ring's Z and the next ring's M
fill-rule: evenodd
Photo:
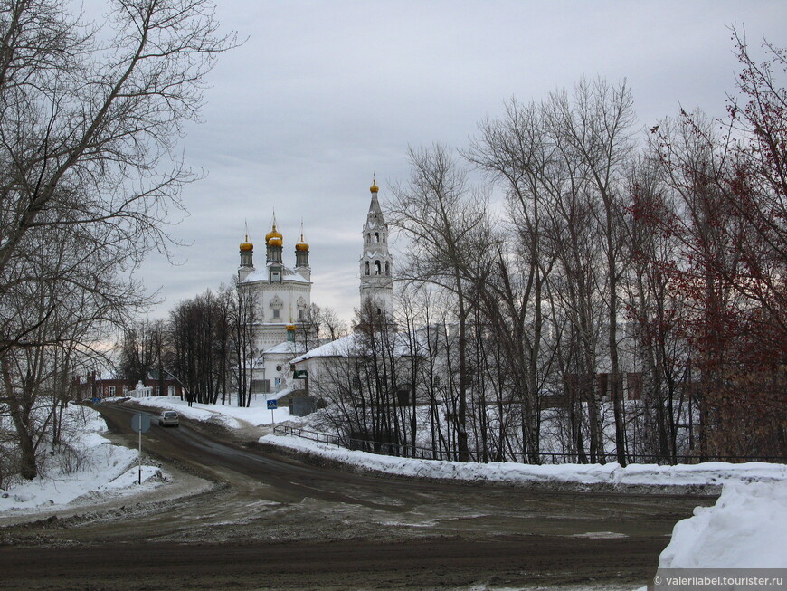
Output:
M725 484L713 507L678 521L659 568L787 566L787 482Z

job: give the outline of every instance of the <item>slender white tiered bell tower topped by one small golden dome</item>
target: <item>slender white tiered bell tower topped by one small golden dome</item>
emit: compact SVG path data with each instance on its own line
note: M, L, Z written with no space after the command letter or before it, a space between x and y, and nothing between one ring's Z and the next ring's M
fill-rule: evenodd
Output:
M373 179L369 191L372 201L364 226L364 250L361 254L361 304L372 300L377 314L391 318L394 313L394 260L388 252L388 224L377 200L379 191Z

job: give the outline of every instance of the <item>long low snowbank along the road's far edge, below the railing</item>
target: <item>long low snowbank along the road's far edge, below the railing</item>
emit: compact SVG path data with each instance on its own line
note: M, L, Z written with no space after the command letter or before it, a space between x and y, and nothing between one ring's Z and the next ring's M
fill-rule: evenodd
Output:
M619 463L531 465L514 462L445 462L414 460L375 453L347 450L337 445L317 443L281 435L265 435L260 443L279 445L299 452L378 472L410 477L489 482L579 482L583 484L705 485L726 482L787 482L787 466L764 462L707 462L697 465L659 466Z

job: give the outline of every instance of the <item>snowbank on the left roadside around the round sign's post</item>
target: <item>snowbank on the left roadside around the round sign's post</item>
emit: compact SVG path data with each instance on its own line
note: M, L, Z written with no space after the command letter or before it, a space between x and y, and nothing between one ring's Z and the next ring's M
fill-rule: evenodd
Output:
M155 488L161 479L156 466L142 466L137 485L137 450L109 443L100 433L107 425L98 412L81 406L68 408L69 420L78 424L79 434L50 458L43 475L0 490L0 516L36 512L69 503L85 503L128 492ZM151 480L152 479L152 480Z

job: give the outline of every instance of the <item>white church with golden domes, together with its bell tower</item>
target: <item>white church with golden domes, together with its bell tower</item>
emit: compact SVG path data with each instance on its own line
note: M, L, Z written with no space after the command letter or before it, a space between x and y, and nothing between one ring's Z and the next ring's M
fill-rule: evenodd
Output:
M378 314L390 317L394 309L394 261L388 250L388 225L377 199L379 187L375 181L369 191L371 203L362 233L360 301L371 300ZM252 392L286 404L303 382L292 378L290 361L311 353L295 338L311 305L311 268L302 228L300 240L295 244L295 266L290 268L283 261L284 237L276 229L275 217L272 226L265 235L265 266L261 269L254 267L254 245L248 235L241 243L238 280L239 289L247 291L255 305L252 333L256 361ZM318 353L319 349L314 352Z

